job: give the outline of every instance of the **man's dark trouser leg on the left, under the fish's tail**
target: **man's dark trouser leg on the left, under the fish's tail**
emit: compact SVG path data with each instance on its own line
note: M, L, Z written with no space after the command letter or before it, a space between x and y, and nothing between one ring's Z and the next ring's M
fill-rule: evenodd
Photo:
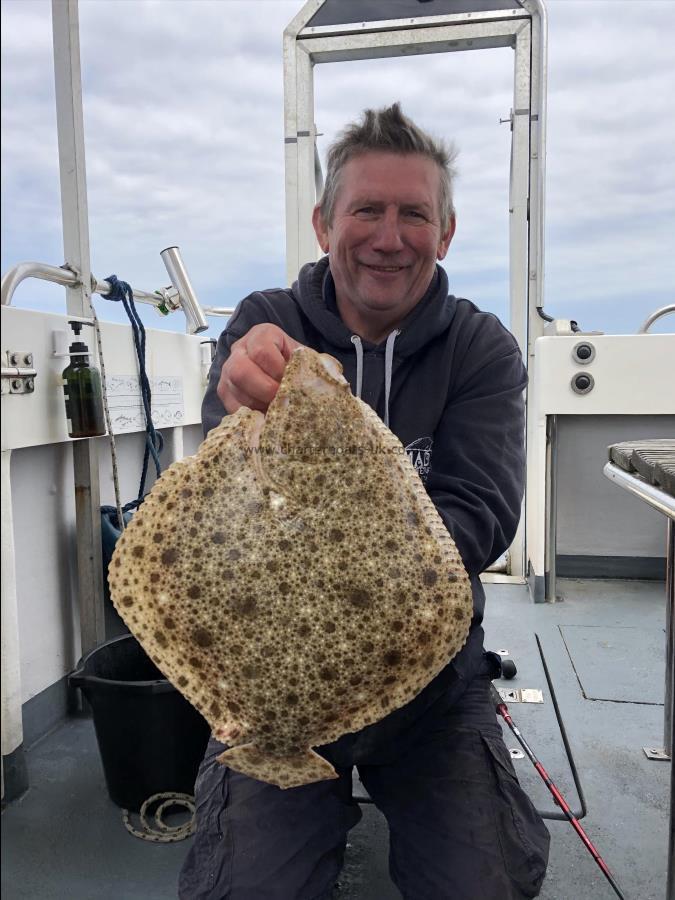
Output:
M197 831L180 900L329 897L347 832L361 815L351 775L282 791L221 766L211 749L195 785Z

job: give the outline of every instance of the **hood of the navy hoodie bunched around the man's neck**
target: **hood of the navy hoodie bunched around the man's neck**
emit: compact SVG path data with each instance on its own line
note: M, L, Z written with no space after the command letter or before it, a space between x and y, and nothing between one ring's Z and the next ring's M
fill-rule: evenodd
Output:
M324 256L316 263L303 266L293 284L293 295L326 340L342 350L353 350L353 332L339 316L329 263L330 257ZM456 309L456 298L448 296L448 276L437 265L426 294L395 329L396 355L410 356L445 331ZM374 346L365 340L363 344L366 348Z

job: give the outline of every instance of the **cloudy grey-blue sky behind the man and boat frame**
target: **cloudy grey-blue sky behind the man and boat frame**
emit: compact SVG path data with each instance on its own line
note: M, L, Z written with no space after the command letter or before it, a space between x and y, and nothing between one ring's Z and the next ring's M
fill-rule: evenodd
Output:
M382 0L386 3L386 0ZM204 304L285 283L281 38L301 0L80 0L92 271L168 284L180 246ZM548 0L545 307L634 332L673 302L675 0ZM460 150L453 293L508 324L508 49L315 69L322 154L365 106ZM2 0L2 271L63 262L48 0ZM15 303L65 310L64 290ZM99 313L117 318L109 302ZM150 327L182 330L141 307ZM180 319L180 321L179 321ZM217 334L222 320L212 319ZM655 330L675 330L675 317Z

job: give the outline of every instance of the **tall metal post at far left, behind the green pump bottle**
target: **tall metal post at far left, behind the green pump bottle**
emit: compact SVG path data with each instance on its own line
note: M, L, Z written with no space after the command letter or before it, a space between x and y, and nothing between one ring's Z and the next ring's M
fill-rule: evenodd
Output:
M69 315L90 315L91 270L84 159L77 0L52 0L56 125L65 261L80 276L66 288ZM82 653L105 640L98 454L94 440L73 443L77 570Z

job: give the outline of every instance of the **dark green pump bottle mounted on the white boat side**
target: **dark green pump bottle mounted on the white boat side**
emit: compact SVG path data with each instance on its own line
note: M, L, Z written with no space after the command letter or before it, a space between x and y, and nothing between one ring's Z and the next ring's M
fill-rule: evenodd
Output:
M82 322L70 322L70 327L79 336ZM74 341L69 352L70 365L62 376L68 434L73 438L105 434L101 373L89 365L89 348L83 341Z

